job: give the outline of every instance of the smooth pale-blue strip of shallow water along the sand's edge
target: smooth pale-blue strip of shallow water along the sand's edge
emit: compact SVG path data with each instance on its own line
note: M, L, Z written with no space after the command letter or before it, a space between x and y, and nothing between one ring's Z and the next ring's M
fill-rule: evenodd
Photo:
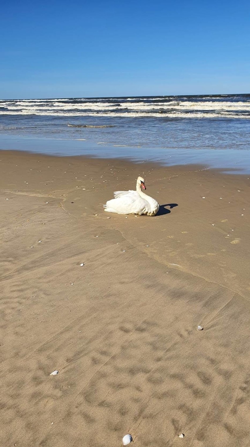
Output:
M152 148L96 142L89 139L51 139L0 134L0 151L38 153L48 156L85 156L125 160L161 166L202 165L206 169L250 175L250 151L240 149ZM154 155L153 155L154 154Z

